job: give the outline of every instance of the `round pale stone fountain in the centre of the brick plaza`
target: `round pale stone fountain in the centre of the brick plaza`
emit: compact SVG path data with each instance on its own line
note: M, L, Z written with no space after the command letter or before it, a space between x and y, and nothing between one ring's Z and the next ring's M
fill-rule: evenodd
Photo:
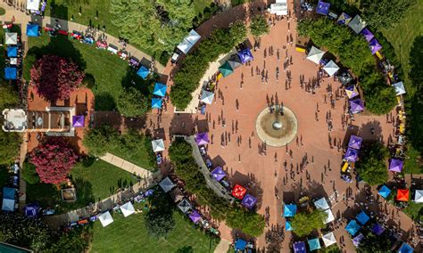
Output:
M272 147L281 147L294 140L298 121L294 111L289 108L275 108L270 111L270 108L267 107L261 110L257 117L255 129L261 141Z

